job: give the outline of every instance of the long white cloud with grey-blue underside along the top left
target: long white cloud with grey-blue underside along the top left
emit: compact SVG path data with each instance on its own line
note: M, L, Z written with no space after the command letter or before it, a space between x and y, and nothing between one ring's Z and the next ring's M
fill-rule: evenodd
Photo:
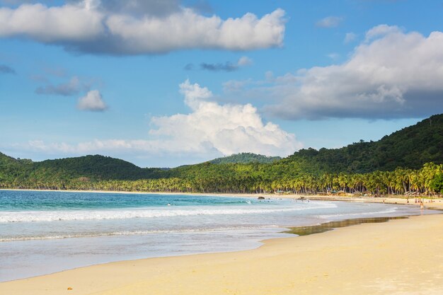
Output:
M262 18L246 13L223 20L175 2L84 0L62 6L3 7L0 37L27 38L96 54L159 54L195 48L255 50L282 45L282 9Z

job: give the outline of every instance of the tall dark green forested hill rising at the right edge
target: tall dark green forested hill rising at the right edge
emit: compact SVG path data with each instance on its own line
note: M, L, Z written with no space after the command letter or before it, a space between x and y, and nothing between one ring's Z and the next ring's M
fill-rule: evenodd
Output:
M302 149L284 161L303 162L314 170L333 173L418 169L427 162L443 163L443 115L434 115L379 141L360 141L341 149Z

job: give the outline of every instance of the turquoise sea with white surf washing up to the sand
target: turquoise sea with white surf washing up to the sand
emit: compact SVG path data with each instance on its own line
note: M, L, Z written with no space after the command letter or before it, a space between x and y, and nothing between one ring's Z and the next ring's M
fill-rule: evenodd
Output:
M284 226L421 214L402 205L0 190L0 282L117 260L256 248Z

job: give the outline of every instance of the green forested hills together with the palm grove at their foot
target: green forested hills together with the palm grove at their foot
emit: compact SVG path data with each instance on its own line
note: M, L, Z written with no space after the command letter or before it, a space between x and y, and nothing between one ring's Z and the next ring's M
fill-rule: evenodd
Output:
M443 115L379 141L360 141L341 149L302 149L269 163L254 160L263 157L245 153L215 163L160 169L98 155L33 162L0 153L0 187L304 194L343 190L375 195L443 192Z

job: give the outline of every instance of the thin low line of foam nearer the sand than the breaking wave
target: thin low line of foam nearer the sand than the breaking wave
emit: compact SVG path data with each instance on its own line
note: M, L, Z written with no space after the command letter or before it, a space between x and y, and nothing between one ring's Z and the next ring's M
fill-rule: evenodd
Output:
M108 233L77 233L66 235L53 235L53 236L15 236L10 238L0 238L0 242L12 242L12 241L33 241L33 240L57 240L61 238L93 238L98 236L135 236L135 235L147 235L150 233L200 233L210 231L236 231L236 230L256 230L256 229L271 229L278 228L276 225L265 226L226 226L217 228L206 229L177 229L177 230L156 230L156 231L113 231Z

